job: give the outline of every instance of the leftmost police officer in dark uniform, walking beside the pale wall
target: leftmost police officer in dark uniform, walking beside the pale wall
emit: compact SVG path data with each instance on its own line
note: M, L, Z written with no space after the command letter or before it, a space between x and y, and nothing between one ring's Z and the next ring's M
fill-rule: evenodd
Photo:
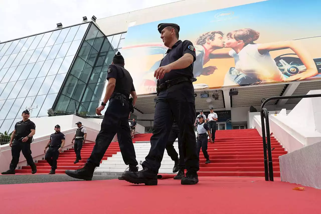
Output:
M31 166L31 173L37 172L37 167L32 160L30 144L32 136L36 133L36 125L29 120L30 113L28 110L22 111L22 120L14 125L14 131L11 134L9 146L11 147L12 160L10 169L1 174L15 174L15 168L19 163L20 152L27 160L27 164Z

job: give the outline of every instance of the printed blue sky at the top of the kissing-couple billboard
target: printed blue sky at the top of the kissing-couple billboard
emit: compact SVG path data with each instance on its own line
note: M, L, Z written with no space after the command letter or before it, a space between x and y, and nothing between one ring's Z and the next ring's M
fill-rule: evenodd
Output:
M158 22L128 28L125 46L162 42L157 25L163 22L177 23L180 26L180 39L195 39L207 31L223 31L225 34L241 28L252 28L261 33L257 42L281 41L301 37L321 35L319 22L321 1L313 4L303 1L268 0L254 4L224 8L203 13L166 19ZM233 13L216 18L221 13Z

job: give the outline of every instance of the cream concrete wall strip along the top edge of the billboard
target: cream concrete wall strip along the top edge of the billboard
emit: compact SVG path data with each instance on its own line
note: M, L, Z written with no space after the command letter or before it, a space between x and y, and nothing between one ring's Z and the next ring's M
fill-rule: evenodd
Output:
M97 19L96 23L99 25L100 30L106 35L112 35L127 31L128 25L132 24L139 25L193 13L201 13L261 1L264 0L185 0ZM157 26L155 26L155 30L157 30Z

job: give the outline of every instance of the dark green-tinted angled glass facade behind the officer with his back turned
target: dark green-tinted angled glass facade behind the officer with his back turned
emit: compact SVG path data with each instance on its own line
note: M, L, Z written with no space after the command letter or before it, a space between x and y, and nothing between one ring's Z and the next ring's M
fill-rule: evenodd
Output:
M106 37L91 24L54 110L95 115L106 90L108 66L125 35L123 33Z

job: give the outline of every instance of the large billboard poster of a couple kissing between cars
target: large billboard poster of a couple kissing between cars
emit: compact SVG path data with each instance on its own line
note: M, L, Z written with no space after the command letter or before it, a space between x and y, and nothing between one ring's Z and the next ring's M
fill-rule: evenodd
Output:
M195 89L315 80L321 77L320 7L321 1L268 0L133 26L121 52L125 68L137 94L156 93L154 71L168 49L157 25L168 22L195 46Z

